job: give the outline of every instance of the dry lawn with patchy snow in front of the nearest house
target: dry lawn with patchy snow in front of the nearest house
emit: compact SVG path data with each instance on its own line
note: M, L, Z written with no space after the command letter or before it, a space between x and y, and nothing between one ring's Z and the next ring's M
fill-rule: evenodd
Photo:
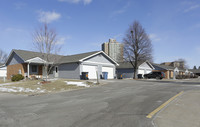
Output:
M76 86L67 84L65 81L70 82L84 82L81 80L65 80L59 79L51 81L50 83L41 84L39 80L28 80L21 83L13 83L0 87L1 92L9 92L16 94L45 94L52 92L60 92L66 90L85 88L83 86ZM93 85L91 82L85 82L87 85Z

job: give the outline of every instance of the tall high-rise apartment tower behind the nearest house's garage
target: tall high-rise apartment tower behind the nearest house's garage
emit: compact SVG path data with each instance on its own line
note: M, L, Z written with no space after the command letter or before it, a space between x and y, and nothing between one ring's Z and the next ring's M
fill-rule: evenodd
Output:
M113 58L117 62L123 61L123 44L117 42L115 39L109 39L109 42L102 44L102 51L104 51L108 56Z

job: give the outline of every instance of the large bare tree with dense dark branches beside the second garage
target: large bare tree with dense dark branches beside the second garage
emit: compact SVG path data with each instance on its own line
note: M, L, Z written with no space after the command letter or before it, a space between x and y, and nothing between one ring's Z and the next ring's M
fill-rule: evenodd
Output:
M134 79L137 78L138 62L152 61L152 44L149 36L138 21L128 29L124 37L124 58L130 62L134 70Z

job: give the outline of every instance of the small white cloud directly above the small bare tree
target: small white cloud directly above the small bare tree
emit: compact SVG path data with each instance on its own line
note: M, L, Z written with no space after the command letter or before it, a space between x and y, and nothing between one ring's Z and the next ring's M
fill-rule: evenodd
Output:
M45 23L51 23L53 21L58 20L61 17L61 14L56 13L56 12L50 12L50 11L38 11L39 13L39 22L45 22Z

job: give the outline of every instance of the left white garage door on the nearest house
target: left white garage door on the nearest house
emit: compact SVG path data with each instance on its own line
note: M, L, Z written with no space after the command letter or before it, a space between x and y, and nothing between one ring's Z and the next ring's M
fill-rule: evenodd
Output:
M97 79L96 66L83 65L83 72L88 72L89 79Z

